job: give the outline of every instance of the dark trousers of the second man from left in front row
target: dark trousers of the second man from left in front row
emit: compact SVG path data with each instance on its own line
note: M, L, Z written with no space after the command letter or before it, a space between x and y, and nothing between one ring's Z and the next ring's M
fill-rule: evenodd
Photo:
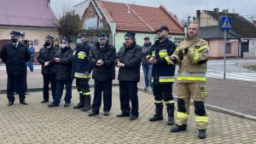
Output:
M49 101L49 84L51 87L51 94L52 99L55 99L55 93L56 93L56 80L55 80L55 74L43 74L44 79L44 101Z

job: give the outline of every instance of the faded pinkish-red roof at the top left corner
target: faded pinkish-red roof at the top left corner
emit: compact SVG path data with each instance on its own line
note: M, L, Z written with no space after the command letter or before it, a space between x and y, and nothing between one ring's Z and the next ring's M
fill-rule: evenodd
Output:
M1 0L0 25L57 27L49 0Z

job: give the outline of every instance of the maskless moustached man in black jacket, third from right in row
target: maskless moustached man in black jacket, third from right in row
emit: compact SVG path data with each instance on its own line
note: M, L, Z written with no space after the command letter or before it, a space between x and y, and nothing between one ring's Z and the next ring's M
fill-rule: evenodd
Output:
M116 60L116 66L119 67L119 94L122 111L117 117L130 117L130 120L135 120L139 116L137 83L140 80L142 60L143 50L136 44L135 33L127 32L124 46L119 49Z

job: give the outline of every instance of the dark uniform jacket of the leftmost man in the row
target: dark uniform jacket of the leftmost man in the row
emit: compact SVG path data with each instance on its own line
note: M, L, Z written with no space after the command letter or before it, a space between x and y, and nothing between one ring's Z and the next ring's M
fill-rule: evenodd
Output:
M12 42L6 43L0 52L0 57L6 64L8 75L26 74L26 62L30 60L30 54L25 43L18 43L17 47Z

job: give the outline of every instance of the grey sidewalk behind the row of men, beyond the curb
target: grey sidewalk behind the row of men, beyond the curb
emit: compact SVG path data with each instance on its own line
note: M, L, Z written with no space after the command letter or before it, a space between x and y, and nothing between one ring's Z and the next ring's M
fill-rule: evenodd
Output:
M28 89L43 88L43 77L40 71L40 69L36 69L34 74L28 72ZM118 83L117 76L118 71L116 71L116 79L113 83ZM6 84L7 75L2 70L0 71L0 90L6 89ZM93 79L90 79L90 84L93 84ZM75 82L73 82L74 85ZM141 72L141 80L138 85L144 87L143 72ZM256 116L256 83L207 78L207 89L209 94L207 104ZM176 82L173 84L173 95L177 95Z

